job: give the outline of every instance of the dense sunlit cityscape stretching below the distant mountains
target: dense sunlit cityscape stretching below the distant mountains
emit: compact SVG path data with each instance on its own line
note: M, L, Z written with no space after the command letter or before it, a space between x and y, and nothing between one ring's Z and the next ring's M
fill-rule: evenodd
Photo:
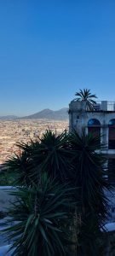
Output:
M57 135L68 130L68 121L48 119L16 119L0 120L0 165L14 152L18 153L15 143L27 143L31 139L37 140L47 129Z

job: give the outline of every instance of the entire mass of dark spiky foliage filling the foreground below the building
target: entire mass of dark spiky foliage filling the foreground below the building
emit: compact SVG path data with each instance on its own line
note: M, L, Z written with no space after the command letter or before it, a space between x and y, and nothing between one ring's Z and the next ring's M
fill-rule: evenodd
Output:
M78 256L100 255L98 237L108 214L104 189L109 189L104 179L105 159L100 153L100 137L86 135L84 131L81 136L77 131L70 134L65 131L56 137L48 130L39 142L18 143L18 147L20 155L5 164L9 172L18 173L16 184L24 186L14 192L17 203L9 211L14 220L21 220L9 229L13 231L10 236L17 237L15 253L20 254L23 249L22 255L28 256L64 255L70 242L68 234ZM44 182L46 173L49 179ZM67 191L71 191L68 199ZM76 202L73 208L72 201ZM45 216L47 223L43 218L46 207L51 216ZM41 225L43 231L39 230Z

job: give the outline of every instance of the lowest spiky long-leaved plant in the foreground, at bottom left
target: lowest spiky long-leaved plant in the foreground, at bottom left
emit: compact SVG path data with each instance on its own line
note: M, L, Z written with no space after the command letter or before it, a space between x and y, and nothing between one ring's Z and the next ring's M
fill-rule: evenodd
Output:
M66 255L74 206L71 193L72 189L50 180L46 174L39 186L11 193L17 198L9 209L15 224L5 232L13 240L13 255Z

